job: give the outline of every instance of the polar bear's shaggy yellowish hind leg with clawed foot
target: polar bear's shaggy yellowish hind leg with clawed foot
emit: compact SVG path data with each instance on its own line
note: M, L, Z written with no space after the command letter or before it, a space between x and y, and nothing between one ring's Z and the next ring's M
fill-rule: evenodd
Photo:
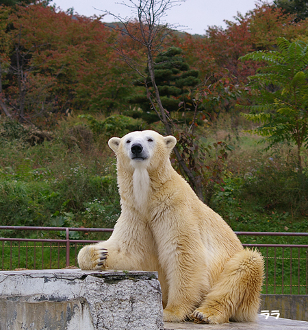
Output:
M257 317L264 261L256 250L236 253L224 266L214 287L191 317L211 324L252 322Z

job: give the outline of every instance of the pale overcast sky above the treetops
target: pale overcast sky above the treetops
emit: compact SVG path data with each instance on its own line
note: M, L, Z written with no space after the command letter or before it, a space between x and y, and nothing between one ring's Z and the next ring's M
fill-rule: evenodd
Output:
M124 0L129 3L129 0ZM123 0L53 0L53 3L66 11L74 8L75 12L84 16L102 14L99 10L107 10L121 17L131 17L131 11L125 5L120 5ZM255 8L257 0L186 0L166 12L165 21L172 25L181 25L178 30L190 34L204 34L208 26L218 25L226 27L224 20L235 21L233 16L237 12L246 14L248 10ZM272 2L272 1L268 1ZM110 23L114 19L107 15L103 21Z

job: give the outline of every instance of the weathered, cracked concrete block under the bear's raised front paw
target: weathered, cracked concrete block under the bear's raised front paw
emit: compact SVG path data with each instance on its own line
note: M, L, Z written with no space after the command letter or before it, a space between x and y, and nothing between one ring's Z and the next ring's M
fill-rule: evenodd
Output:
M0 329L161 330L156 272L0 272Z

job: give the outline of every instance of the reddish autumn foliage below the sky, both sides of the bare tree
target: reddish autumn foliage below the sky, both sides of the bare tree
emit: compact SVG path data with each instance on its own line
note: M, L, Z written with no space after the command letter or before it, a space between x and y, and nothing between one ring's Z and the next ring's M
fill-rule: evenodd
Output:
M127 98L136 89L135 73L120 60L116 40L131 58L144 54L120 29L107 27L100 17L40 2L1 5L0 19L1 112L50 126L72 111L108 115L130 107ZM261 64L241 62L241 56L275 49L279 36L305 40L307 27L307 20L298 22L294 15L261 3L228 21L226 28L209 27L203 36L171 32L162 47L181 48L183 60L198 70L201 101L215 117L249 96L244 84Z

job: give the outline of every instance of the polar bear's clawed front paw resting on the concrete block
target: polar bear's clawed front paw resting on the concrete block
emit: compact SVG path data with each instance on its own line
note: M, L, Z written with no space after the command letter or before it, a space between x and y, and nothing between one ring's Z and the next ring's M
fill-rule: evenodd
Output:
M82 270L103 270L107 267L108 251L96 245L81 248L78 254L78 264Z

